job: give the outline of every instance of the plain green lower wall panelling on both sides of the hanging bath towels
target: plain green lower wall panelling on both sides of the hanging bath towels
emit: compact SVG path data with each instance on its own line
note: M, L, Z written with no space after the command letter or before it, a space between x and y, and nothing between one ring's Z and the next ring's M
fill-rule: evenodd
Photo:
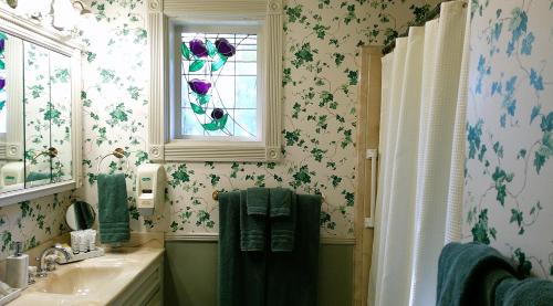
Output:
M217 306L217 242L167 241L165 305ZM321 244L319 306L349 306L353 245Z

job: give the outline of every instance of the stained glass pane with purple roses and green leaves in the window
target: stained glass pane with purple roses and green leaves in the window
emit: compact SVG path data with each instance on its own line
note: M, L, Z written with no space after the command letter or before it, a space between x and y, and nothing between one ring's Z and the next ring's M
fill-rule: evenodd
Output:
M181 33L181 135L257 139L258 36Z

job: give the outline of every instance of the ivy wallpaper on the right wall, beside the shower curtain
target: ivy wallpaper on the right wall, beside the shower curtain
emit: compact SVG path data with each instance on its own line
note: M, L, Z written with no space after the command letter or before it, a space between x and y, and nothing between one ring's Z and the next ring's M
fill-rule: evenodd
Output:
M553 1L472 1L465 235L553 279Z

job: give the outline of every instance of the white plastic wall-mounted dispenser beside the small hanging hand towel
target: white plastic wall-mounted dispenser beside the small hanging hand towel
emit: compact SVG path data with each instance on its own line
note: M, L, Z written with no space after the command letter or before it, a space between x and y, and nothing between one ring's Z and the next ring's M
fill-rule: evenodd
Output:
M136 207L140 215L153 215L154 209L161 210L165 202L165 169L159 163L143 163L136 172Z

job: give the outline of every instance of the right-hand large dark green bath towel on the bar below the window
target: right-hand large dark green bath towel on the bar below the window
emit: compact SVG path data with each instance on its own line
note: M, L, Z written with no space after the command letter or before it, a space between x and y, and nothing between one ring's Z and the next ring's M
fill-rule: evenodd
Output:
M321 196L293 197L298 215L294 249L268 252L268 306L317 305Z

